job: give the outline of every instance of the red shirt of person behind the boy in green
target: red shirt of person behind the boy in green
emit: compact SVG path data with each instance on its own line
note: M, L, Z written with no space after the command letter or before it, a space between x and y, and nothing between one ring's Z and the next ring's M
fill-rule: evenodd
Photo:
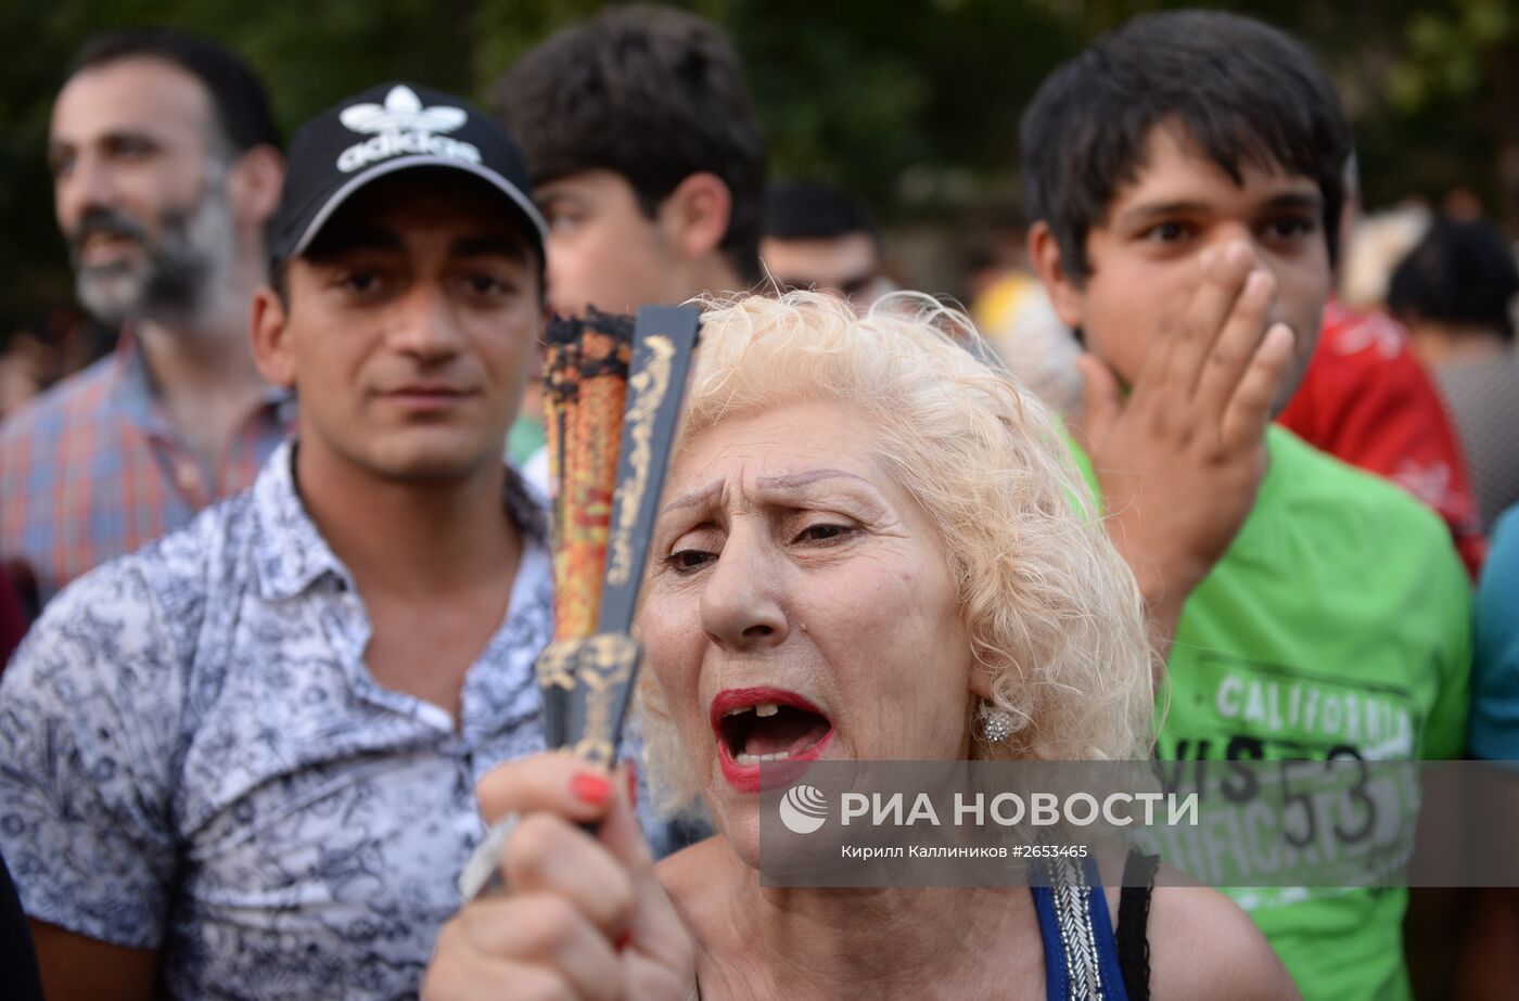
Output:
M1385 313L1331 299L1303 383L1277 421L1309 445L1384 475L1434 507L1476 577L1487 539L1440 393Z

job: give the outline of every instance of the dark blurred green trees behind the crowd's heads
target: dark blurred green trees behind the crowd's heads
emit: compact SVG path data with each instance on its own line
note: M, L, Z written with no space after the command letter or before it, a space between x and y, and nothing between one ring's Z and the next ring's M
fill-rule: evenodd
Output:
M0 6L0 342L71 302L44 144L70 55L93 32L173 24L267 81L289 131L334 99L404 77L483 99L521 52L591 0L9 0ZM860 194L889 226L965 234L1012 217L1018 118L1039 81L1142 11L1124 0L691 0L749 71L773 175ZM1212 5L1303 38L1356 126L1366 201L1470 190L1519 223L1519 0ZM949 289L955 290L955 289Z

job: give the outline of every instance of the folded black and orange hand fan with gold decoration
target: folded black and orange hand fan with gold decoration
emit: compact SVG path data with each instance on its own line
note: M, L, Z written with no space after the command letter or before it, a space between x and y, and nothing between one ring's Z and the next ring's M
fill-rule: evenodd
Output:
M533 670L548 747L617 763L641 649L632 638L649 536L691 369L700 311L592 311L545 331L545 431L553 501L554 641ZM459 878L489 889L510 825L498 823Z

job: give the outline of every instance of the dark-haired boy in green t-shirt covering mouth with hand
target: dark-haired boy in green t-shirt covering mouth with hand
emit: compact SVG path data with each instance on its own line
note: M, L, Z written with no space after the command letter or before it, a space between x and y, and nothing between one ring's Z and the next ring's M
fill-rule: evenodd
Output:
M1142 17L1044 84L1022 150L1030 255L1089 352L1077 436L1167 653L1157 755L1458 755L1470 594L1445 527L1270 424L1334 272L1329 81L1258 21ZM1410 996L1407 892L1235 898L1305 998Z

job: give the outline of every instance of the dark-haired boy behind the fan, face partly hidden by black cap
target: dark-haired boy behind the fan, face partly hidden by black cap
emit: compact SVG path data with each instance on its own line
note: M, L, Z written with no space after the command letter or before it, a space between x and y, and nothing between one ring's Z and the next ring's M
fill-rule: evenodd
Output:
M548 302L632 313L760 278L764 141L743 67L702 18L615 6L495 85L548 220Z

